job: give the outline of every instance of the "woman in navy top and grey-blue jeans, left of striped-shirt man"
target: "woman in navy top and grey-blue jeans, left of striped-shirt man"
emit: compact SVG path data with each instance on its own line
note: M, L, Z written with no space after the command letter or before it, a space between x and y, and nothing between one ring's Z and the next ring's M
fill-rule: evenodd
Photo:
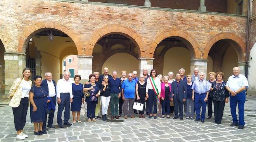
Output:
M194 103L194 100L192 100L192 84L193 82L191 81L192 80L192 76L190 74L187 75L187 100L186 100L186 103L187 103L187 119L194 119L194 108L195 108L195 103ZM189 112L189 106L191 108L191 111Z

